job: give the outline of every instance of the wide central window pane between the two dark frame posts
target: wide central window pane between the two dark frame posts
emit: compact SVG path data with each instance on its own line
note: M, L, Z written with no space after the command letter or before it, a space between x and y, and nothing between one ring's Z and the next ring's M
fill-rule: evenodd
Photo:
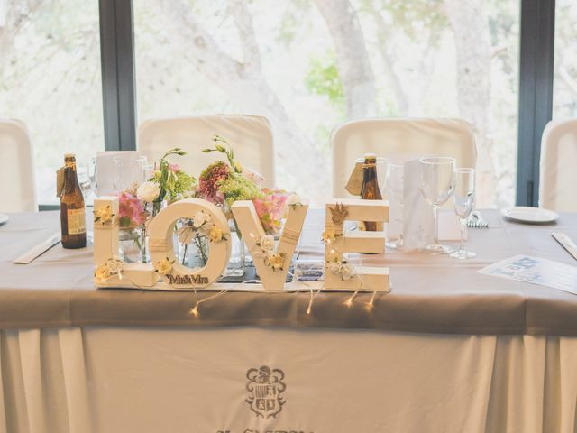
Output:
M479 149L478 206L511 205L519 9L518 0L134 0L138 117L265 115L282 186L299 190L320 174L317 199L331 194L336 124L462 117Z

